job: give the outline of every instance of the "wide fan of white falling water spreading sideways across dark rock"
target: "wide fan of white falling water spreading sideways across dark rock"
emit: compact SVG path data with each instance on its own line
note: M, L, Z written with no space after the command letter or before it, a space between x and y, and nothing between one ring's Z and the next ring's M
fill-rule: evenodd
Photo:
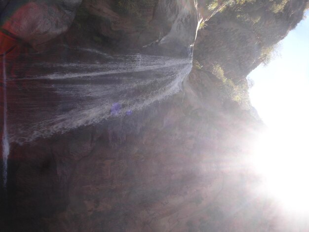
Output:
M191 69L191 59L143 54L34 63L27 76L7 77L9 141L22 144L130 116L179 91Z

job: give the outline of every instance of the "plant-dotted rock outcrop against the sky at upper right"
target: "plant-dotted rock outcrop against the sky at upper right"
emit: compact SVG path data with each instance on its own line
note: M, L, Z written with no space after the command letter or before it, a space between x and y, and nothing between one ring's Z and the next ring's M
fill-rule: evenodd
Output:
M243 80L263 61L263 50L283 39L302 19L305 2L288 1L279 13L270 10L271 2L228 7L200 31L194 56L209 72L219 64L226 77Z

